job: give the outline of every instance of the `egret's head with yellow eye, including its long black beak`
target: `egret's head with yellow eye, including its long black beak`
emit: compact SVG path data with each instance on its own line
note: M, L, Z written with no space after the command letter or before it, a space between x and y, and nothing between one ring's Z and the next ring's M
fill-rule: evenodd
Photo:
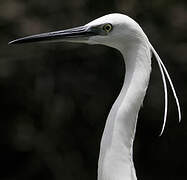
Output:
M64 41L102 44L120 49L125 44L137 43L145 38L143 30L133 19L115 13L102 16L84 26L31 35L13 40L9 44Z

